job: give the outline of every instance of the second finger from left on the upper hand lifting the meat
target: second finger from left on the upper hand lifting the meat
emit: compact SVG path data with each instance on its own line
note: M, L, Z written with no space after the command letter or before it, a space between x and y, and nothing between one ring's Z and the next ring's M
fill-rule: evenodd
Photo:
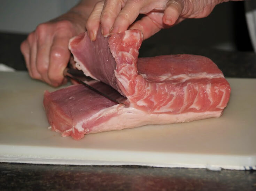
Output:
M116 17L124 6L123 0L106 0L103 10L101 12L100 24L101 33L103 36L109 36L110 29L112 28Z

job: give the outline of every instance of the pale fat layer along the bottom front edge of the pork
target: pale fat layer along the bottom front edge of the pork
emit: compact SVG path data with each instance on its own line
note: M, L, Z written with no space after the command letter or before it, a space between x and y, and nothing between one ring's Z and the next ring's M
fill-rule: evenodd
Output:
M98 119L100 116L110 116L109 120L104 121L95 126L86 126L88 121ZM69 128L61 131L55 125L59 125L57 117L54 115L54 118L51 118L51 127L52 130L60 132L62 137L71 136L75 140L82 139L85 134L99 133L104 131L112 130L122 130L129 129L134 127L140 127L143 125L164 125L171 123L180 123L180 122L189 122L194 120L201 120L206 118L218 118L222 115L222 111L207 111L201 113L187 112L181 114L172 114L172 113L161 113L154 114L138 110L133 107L125 107L122 104L117 104L108 108L105 108L98 113L91 116L91 118L81 120L76 123L76 125L70 124Z

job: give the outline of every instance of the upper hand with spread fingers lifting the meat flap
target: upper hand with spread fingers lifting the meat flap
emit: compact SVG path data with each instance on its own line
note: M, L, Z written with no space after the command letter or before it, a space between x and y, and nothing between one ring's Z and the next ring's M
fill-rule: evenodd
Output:
M100 25L103 36L120 33L130 28L140 29L143 38L146 39L162 28L171 27L186 18L206 17L217 4L224 1L228 0L100 1L89 16L86 28L92 41L95 40ZM135 21L139 14L145 16Z

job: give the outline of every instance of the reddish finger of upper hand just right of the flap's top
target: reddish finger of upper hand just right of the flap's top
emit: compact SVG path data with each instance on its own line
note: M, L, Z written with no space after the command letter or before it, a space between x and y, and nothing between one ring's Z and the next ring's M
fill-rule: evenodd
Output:
M161 17L162 19L162 17ZM143 40L153 36L155 33L161 30L161 26L156 24L150 17L142 17L141 20L136 21L131 25L130 29L139 29L143 34Z

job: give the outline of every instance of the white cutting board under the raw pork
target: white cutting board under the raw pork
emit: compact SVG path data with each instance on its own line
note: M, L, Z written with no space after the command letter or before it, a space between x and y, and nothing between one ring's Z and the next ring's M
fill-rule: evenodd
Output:
M44 90L26 72L0 72L0 161L77 165L148 165L256 169L256 79L227 79L223 116L88 134L82 140L48 130Z

